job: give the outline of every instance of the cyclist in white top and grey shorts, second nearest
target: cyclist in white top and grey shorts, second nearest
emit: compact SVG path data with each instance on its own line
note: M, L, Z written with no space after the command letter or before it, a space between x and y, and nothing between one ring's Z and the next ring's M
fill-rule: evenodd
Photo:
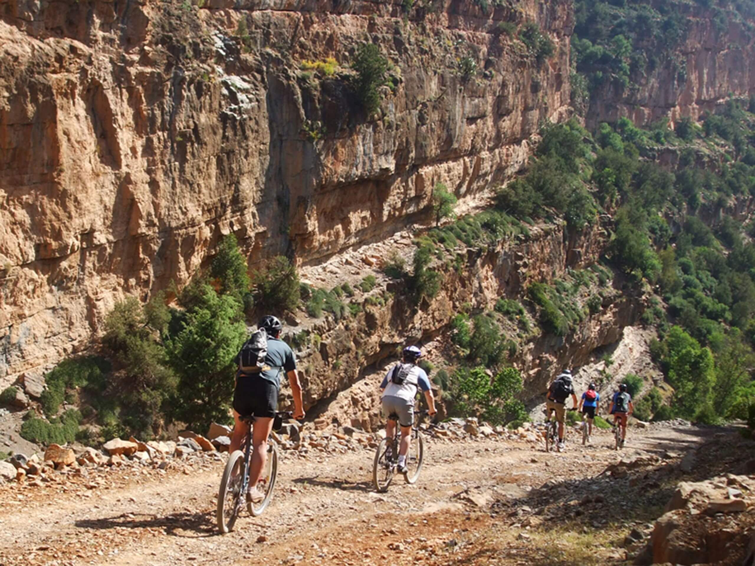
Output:
M388 373L381 383L383 392L383 412L388 417L385 434L386 438L393 438L396 434L396 417L401 426L401 444L399 446L399 472L405 474L406 454L411 447L411 425L414 424L414 398L417 390L421 389L427 399L430 417L435 413L435 398L430 389L430 380L424 369L417 365L422 352L417 346L406 346L402 352L402 362L399 362Z

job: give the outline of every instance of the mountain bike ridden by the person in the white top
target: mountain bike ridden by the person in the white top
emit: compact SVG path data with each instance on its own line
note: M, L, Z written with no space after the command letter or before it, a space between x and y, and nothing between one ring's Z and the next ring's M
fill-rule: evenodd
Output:
M420 423L423 417L426 417L430 411L418 411L415 413L416 419L411 426L411 447L406 454L406 473L404 481L413 484L420 477L422 469L422 459L424 457L424 441L420 434ZM383 438L380 444L377 444L375 450L374 462L372 463L372 483L377 491L387 491L393 476L399 468L399 444L401 442L401 430L399 426L399 417L391 414L391 420L396 420L393 438Z

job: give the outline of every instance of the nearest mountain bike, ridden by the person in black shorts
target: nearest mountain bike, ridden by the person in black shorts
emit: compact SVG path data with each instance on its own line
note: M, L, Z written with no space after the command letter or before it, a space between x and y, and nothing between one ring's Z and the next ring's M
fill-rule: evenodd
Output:
M291 418L293 413L290 411L276 412L273 420L273 430L279 430L283 424L284 418ZM257 489L265 497L263 500L254 503L249 498L249 465L251 463L251 426L254 423L254 416L245 415L240 417L242 423L248 423L249 431L242 442L241 450L233 451L228 457L226 468L223 470L223 477L220 479L220 491L217 492L217 528L221 533L233 531L233 525L239 518L244 504L249 514L253 517L262 515L270 500L273 499L273 488L276 485L278 475L278 445L276 441L267 438L267 460L265 467L260 474L260 481L257 482ZM242 494L245 497L242 497Z

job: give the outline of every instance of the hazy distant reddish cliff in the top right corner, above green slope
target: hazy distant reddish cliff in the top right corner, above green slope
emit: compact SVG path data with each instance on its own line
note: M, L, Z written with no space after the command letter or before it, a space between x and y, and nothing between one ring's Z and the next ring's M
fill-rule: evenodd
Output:
M586 115L589 127L621 116L638 125L664 117L671 122L682 116L696 120L732 96L747 98L755 91L752 24L732 17L720 28L713 12L694 2L674 7L683 12L688 26L683 42L657 68L633 76L635 85L621 89L607 84L593 93Z

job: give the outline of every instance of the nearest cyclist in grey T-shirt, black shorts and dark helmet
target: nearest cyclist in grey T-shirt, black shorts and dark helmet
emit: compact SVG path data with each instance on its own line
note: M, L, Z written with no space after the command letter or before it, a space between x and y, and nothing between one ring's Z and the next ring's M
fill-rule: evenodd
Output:
M229 454L239 450L248 432L248 424L242 423L239 415L254 415L251 433L251 465L249 466L249 498L254 503L265 498L265 494L257 489L260 473L267 460L267 437L273 429L273 420L278 408L280 391L280 374L285 371L291 393L294 396L294 419L304 418L304 404L301 398L301 385L296 373L296 358L294 352L283 340L280 333L283 325L278 318L266 315L260 318L257 325L267 334L267 355L265 364L270 366L261 372L243 374L236 372L236 389L233 392L233 435Z

